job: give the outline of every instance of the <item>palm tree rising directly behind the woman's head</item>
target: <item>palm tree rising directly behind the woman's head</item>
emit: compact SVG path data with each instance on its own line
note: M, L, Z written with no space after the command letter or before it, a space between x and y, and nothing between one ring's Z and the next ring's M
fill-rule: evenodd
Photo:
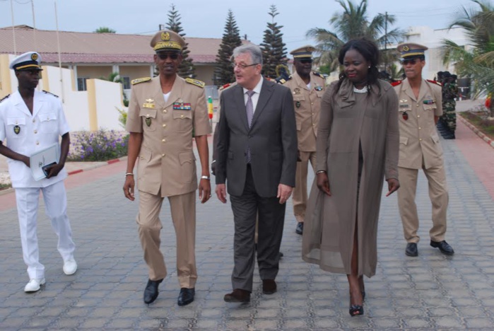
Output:
M389 42L398 42L404 37L404 31L398 28L387 30L387 25L396 21L393 15L380 13L369 21L367 0L362 0L360 4L354 4L351 0L336 2L343 8L343 13L334 13L329 20L334 30L312 28L306 34L317 42L319 64L329 64L331 71L338 67L338 52L349 40L366 37L384 47Z

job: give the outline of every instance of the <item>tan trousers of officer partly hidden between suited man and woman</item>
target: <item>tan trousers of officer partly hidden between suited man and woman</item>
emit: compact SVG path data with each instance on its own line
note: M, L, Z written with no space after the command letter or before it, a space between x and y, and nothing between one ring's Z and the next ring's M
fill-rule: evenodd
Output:
M307 170L309 161L312 170L316 169L316 152L300 152L295 172L295 187L293 188L293 214L298 222L305 220L305 209L307 209Z

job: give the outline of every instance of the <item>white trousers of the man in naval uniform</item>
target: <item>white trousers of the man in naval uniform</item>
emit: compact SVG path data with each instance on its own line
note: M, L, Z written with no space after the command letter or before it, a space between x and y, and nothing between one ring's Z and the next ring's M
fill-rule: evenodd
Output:
M45 200L45 211L52 228L59 237L57 249L64 261L73 258L76 249L72 241L72 231L67 217L67 196L64 181L47 187L16 188L17 213L19 218L20 242L23 258L28 265L30 279L45 278L45 266L40 263L40 250L37 246L37 208L40 191Z

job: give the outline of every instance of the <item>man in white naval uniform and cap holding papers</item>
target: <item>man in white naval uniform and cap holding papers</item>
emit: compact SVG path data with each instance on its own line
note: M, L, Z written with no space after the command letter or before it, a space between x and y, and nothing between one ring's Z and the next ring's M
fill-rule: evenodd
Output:
M18 91L0 101L0 153L8 158L8 172L16 189L17 213L23 258L28 265L29 283L25 292L35 292L45 284L45 266L40 263L37 245L37 207L40 191L47 216L59 237L57 248L64 260L64 273L77 270L73 252L76 246L67 217L64 168L69 153L69 124L56 95L35 88L40 80L41 57L37 52L19 55L10 64L18 80ZM46 178L35 180L30 156L59 144L59 161L48 166ZM5 144L7 142L7 144Z

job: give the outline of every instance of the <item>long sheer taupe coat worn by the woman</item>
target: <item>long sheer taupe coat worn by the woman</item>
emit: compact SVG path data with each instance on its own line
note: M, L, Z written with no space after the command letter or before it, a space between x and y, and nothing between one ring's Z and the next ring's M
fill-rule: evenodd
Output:
M377 264L377 219L382 185L398 178L398 98L389 83L379 81L370 96L353 93L336 82L322 98L317 134L317 170L326 170L331 197L314 180L302 240L302 259L329 272L351 273L353 233L358 226L358 274L372 277ZM358 194L358 146L363 170ZM359 195L359 197L357 197ZM357 206L358 204L358 206ZM355 224L356 214L356 224Z

